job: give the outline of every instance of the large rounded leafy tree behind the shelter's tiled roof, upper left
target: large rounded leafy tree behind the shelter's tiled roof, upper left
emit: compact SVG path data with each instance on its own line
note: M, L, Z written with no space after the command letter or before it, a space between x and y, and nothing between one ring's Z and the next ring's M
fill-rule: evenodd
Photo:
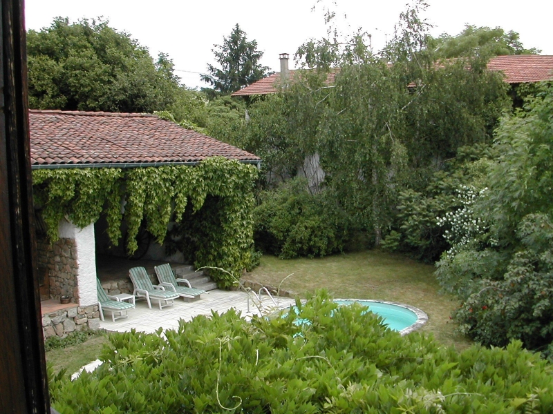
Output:
M69 23L27 34L29 104L36 109L153 112L174 102L178 77L165 54L147 48L107 21Z

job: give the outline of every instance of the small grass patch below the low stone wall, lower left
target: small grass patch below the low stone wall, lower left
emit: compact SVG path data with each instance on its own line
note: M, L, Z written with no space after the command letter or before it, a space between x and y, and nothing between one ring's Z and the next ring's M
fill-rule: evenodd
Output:
M52 364L54 373L66 369L69 375L79 371L83 365L93 362L100 355L102 346L109 342L108 335L91 336L80 344L52 349L46 352L46 362Z

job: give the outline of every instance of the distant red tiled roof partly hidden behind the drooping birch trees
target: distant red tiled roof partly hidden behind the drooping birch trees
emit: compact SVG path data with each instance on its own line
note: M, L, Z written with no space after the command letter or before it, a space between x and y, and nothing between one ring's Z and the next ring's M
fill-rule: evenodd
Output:
M553 78L553 56L551 55L507 55L489 59L487 68L505 74L506 83L532 83ZM290 70L290 80L294 80ZM327 83L333 83L335 72L329 74ZM280 83L279 72L252 83L232 94L233 97L267 95L277 92Z

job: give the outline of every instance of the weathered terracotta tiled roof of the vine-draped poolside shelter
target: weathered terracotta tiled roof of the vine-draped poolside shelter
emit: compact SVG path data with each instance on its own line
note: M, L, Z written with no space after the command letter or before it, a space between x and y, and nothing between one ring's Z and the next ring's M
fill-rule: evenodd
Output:
M261 162L156 115L30 110L29 124L32 168L197 164L217 155Z

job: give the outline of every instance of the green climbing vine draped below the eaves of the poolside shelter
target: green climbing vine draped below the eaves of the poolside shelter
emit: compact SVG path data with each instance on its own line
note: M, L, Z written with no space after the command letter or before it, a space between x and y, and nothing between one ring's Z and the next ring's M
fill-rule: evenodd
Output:
M196 241L194 265L239 273L252 259L252 190L256 176L252 165L212 157L197 166L34 170L33 189L50 241L58 239L57 226L64 217L85 227L97 221L105 206L107 233L115 246L125 219L130 254L138 248L136 236L142 220L149 233L163 244L171 219L180 223L189 203L193 213L198 213L207 196L212 196L218 202L205 208L216 210L196 216L202 220L203 231ZM217 270L212 276L221 287L234 283Z

